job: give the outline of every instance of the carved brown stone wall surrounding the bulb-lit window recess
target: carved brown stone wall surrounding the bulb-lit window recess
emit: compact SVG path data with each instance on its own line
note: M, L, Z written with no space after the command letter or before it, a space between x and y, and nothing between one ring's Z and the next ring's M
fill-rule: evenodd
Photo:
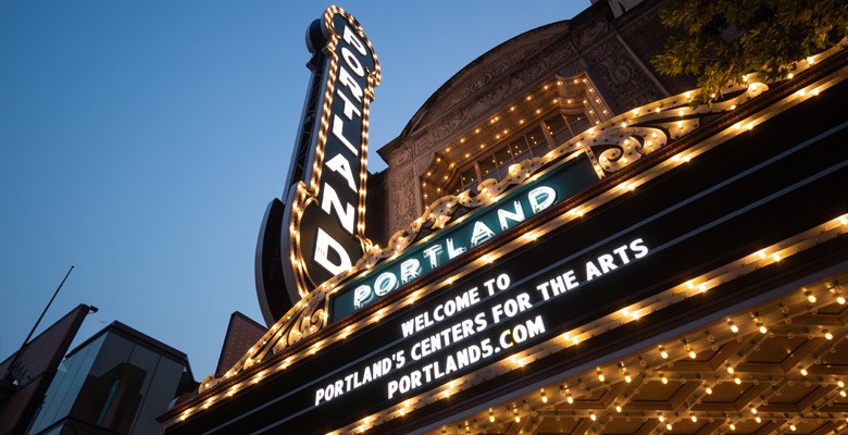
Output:
M388 169L374 177L381 183L370 183L369 197L381 198L384 211L375 213L370 208L370 237L385 246L391 234L419 217L438 195L424 198L421 188L434 162L453 163L445 176L448 182L456 179L470 146L461 141L463 134L474 125L486 126L494 114L511 105L519 105L520 111L536 107L538 102L526 101L524 96L544 83L557 77L586 78L601 101L598 105L594 98L585 99L584 111L607 111L599 109L596 121L693 88L690 77L661 77L650 65L649 59L668 37L659 23L661 5L661 1L645 1L613 17L607 2L597 2L573 20L501 44L457 73L433 94L400 136L377 151ZM581 105L579 100L575 104ZM506 129L517 132L521 126Z

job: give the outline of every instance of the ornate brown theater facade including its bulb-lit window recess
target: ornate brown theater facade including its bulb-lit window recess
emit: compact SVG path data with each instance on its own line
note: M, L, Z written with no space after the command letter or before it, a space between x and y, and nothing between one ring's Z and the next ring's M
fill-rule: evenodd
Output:
M607 2L598 2L573 20L519 35L458 72L398 138L377 150L388 170L377 175L384 184L370 188L373 201L385 201L386 210L370 214L374 222L369 227L384 231L375 239L387 240L429 201L478 182L467 176L473 162L485 165L495 149L534 127L548 133L552 126L544 123L552 114L581 117L572 133L582 132L613 114L694 88L694 79L658 75L649 64L668 37L660 7L639 4L615 17ZM545 148L563 138L545 135ZM491 176L485 170L471 173ZM422 194L407 194L413 190Z

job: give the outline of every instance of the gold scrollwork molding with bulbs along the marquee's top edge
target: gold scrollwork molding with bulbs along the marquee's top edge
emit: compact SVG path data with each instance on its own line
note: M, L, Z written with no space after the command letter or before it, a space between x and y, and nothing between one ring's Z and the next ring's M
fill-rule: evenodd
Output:
M201 383L199 393L202 394L210 390L210 388L214 388L217 384L226 382L229 377L251 369L260 362L264 363L269 361L271 357L290 349L304 338L313 336L317 332L326 328L328 325L326 312L328 295L337 291L344 284L347 284L351 279L367 273L381 262L392 259L404 252L410 246L419 243L419 237L423 234L422 232L439 231L447 225L452 224L458 217L457 211L460 207L473 211L481 207L491 204L496 202L502 194L513 189L515 186L526 183L528 179L532 182L534 177L543 171L547 171L547 169L552 167L552 165L556 165L558 162L564 161L570 156L578 152L586 152L590 158L596 154L600 157L600 161L595 161L593 159L593 163L596 164L596 170L602 171L599 175L603 176L607 173L616 173L632 165L633 162L640 160L641 157L647 156L657 149L665 148L676 140L686 138L689 134L706 125L708 120L711 120L716 115L732 113L733 111L741 111L739 121L736 124L729 125L729 122L727 122L726 127L720 127L720 133L711 136L708 140L699 142L697 149L687 149L685 152L675 154L668 161L658 163L656 166L645 167L645 171L639 172L639 175L623 183L621 187L627 188L628 184L637 185L644 183L646 179L659 176L665 171L672 171L676 167L675 162L682 163L683 161L688 161L690 157L697 157L698 154L729 140L736 135L753 128L755 125L801 103L806 99L814 98L820 91L825 91L827 88L841 83L846 75L845 66L839 66L839 64L836 64L836 66L828 65L825 70L822 70L824 73L821 75L802 73L811 69L813 64L816 66L819 64L826 64L827 58L835 53L839 53L844 50L844 45L834 47L824 53L810 57L807 61L799 62L798 69L794 73L794 80L797 80L798 85L789 87L782 86L782 90L774 94L774 97L770 100L770 105L764 109L759 108L758 105L755 105L753 109L744 108L745 104L748 104L751 100L755 100L764 94L770 94L770 86L758 82L755 75L749 75L747 77L747 86L726 87L723 92L723 99L711 104L691 105L691 101L699 90L687 91L620 114L600 125L589 128L583 134L551 150L544 157L525 160L515 164L510 167L509 176L504 179L487 179L481 183L478 186L479 192L477 195L473 195L471 191L466 190L459 195L448 195L437 199L429 207L425 208L417 219L411 221L406 228L396 232L385 248L381 248L376 245L371 246L365 254L359 259L351 269L334 276L307 295L300 302L292 307L284 319L280 319L279 322L273 325L260 339L257 346L252 347L237 364L225 373L224 376L207 376ZM844 55L841 58L844 58ZM837 61L838 59L839 58L837 57ZM841 65L844 65L844 63ZM629 142L627 142L628 140ZM651 144L648 144L648 140L651 140ZM409 176L412 174L412 169L408 169L407 172L403 172L402 174L407 179L412 179L414 184L414 178ZM403 176L400 178L403 178ZM634 181L634 178L636 179ZM402 187L402 181L397 183L400 183ZM396 191L396 185L391 185L392 191ZM401 191L401 194L406 192ZM600 201L599 203L609 200L609 197L610 196L607 195L604 197L606 199L598 199L598 201ZM598 204L595 204L595 207L597 206ZM590 209L591 208L588 208L588 210ZM582 215L582 212L577 210L577 208L572 209L572 212L577 212ZM571 214L571 212L566 214ZM843 221L845 221L845 215L839 216L833 222L828 221L825 224L845 225L845 222ZM816 228L811 229L811 232L820 234ZM805 240L810 243L820 241L816 237L810 237L805 234L800 235L800 238L793 241L793 244L807 243ZM788 249L787 247L783 247L782 249ZM682 286L685 286L685 284L682 284ZM386 315L387 310L390 312L401 308L402 307L400 306L383 308L376 315ZM367 323L367 321L365 322ZM262 376L267 375L267 372L285 370L288 364L300 361L303 358L317 352L328 343L346 338L352 326L353 325L348 326L337 335L316 340L308 348L298 349L297 352L292 351L279 366L264 364L262 371L257 371L255 369L251 370L249 374L253 376L252 382L259 382ZM240 378L240 381L241 384L227 384L227 387L237 388L238 385L249 385L246 378ZM215 396L216 394L220 395ZM209 398L204 397L202 399L221 399L220 396L223 396L224 394L223 389L214 390ZM184 417L191 412L201 411L200 408L201 406L192 399L192 401L184 408ZM170 424L174 424L173 419L170 421Z

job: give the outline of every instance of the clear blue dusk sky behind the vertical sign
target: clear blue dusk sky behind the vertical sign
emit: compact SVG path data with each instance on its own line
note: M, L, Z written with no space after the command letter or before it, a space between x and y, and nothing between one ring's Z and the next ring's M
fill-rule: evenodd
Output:
M262 322L257 235L282 194L315 1L0 2L0 359L100 311L214 371L233 311ZM370 170L422 103L497 45L589 1L345 1L383 70Z

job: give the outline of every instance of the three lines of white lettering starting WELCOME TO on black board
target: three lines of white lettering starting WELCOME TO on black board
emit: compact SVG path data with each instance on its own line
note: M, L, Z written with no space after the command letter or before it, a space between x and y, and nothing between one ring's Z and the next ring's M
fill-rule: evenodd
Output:
M384 380L386 399L395 399L512 352L521 344L547 336L549 326L562 322L548 319L539 308L648 253L645 241L635 238L539 276L519 276L513 282L510 274L498 273L446 293L400 321L395 348L319 386L314 406L377 380Z

